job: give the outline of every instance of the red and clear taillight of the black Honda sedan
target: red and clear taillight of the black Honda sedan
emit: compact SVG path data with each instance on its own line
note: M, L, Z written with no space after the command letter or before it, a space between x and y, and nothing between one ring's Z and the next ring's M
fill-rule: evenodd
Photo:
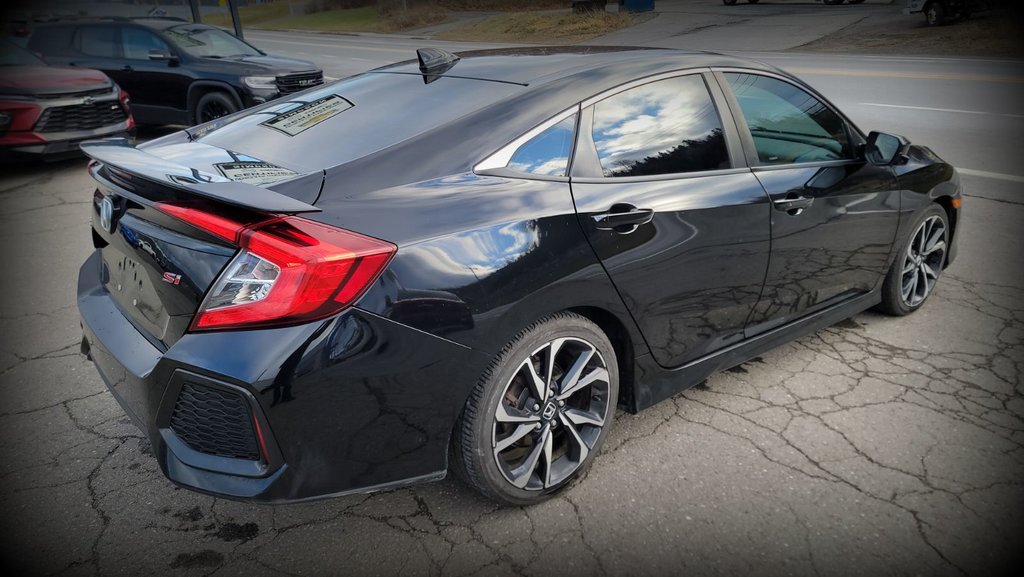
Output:
M291 325L351 306L397 247L298 216L245 224L195 208L158 208L242 250L206 295L189 330Z

